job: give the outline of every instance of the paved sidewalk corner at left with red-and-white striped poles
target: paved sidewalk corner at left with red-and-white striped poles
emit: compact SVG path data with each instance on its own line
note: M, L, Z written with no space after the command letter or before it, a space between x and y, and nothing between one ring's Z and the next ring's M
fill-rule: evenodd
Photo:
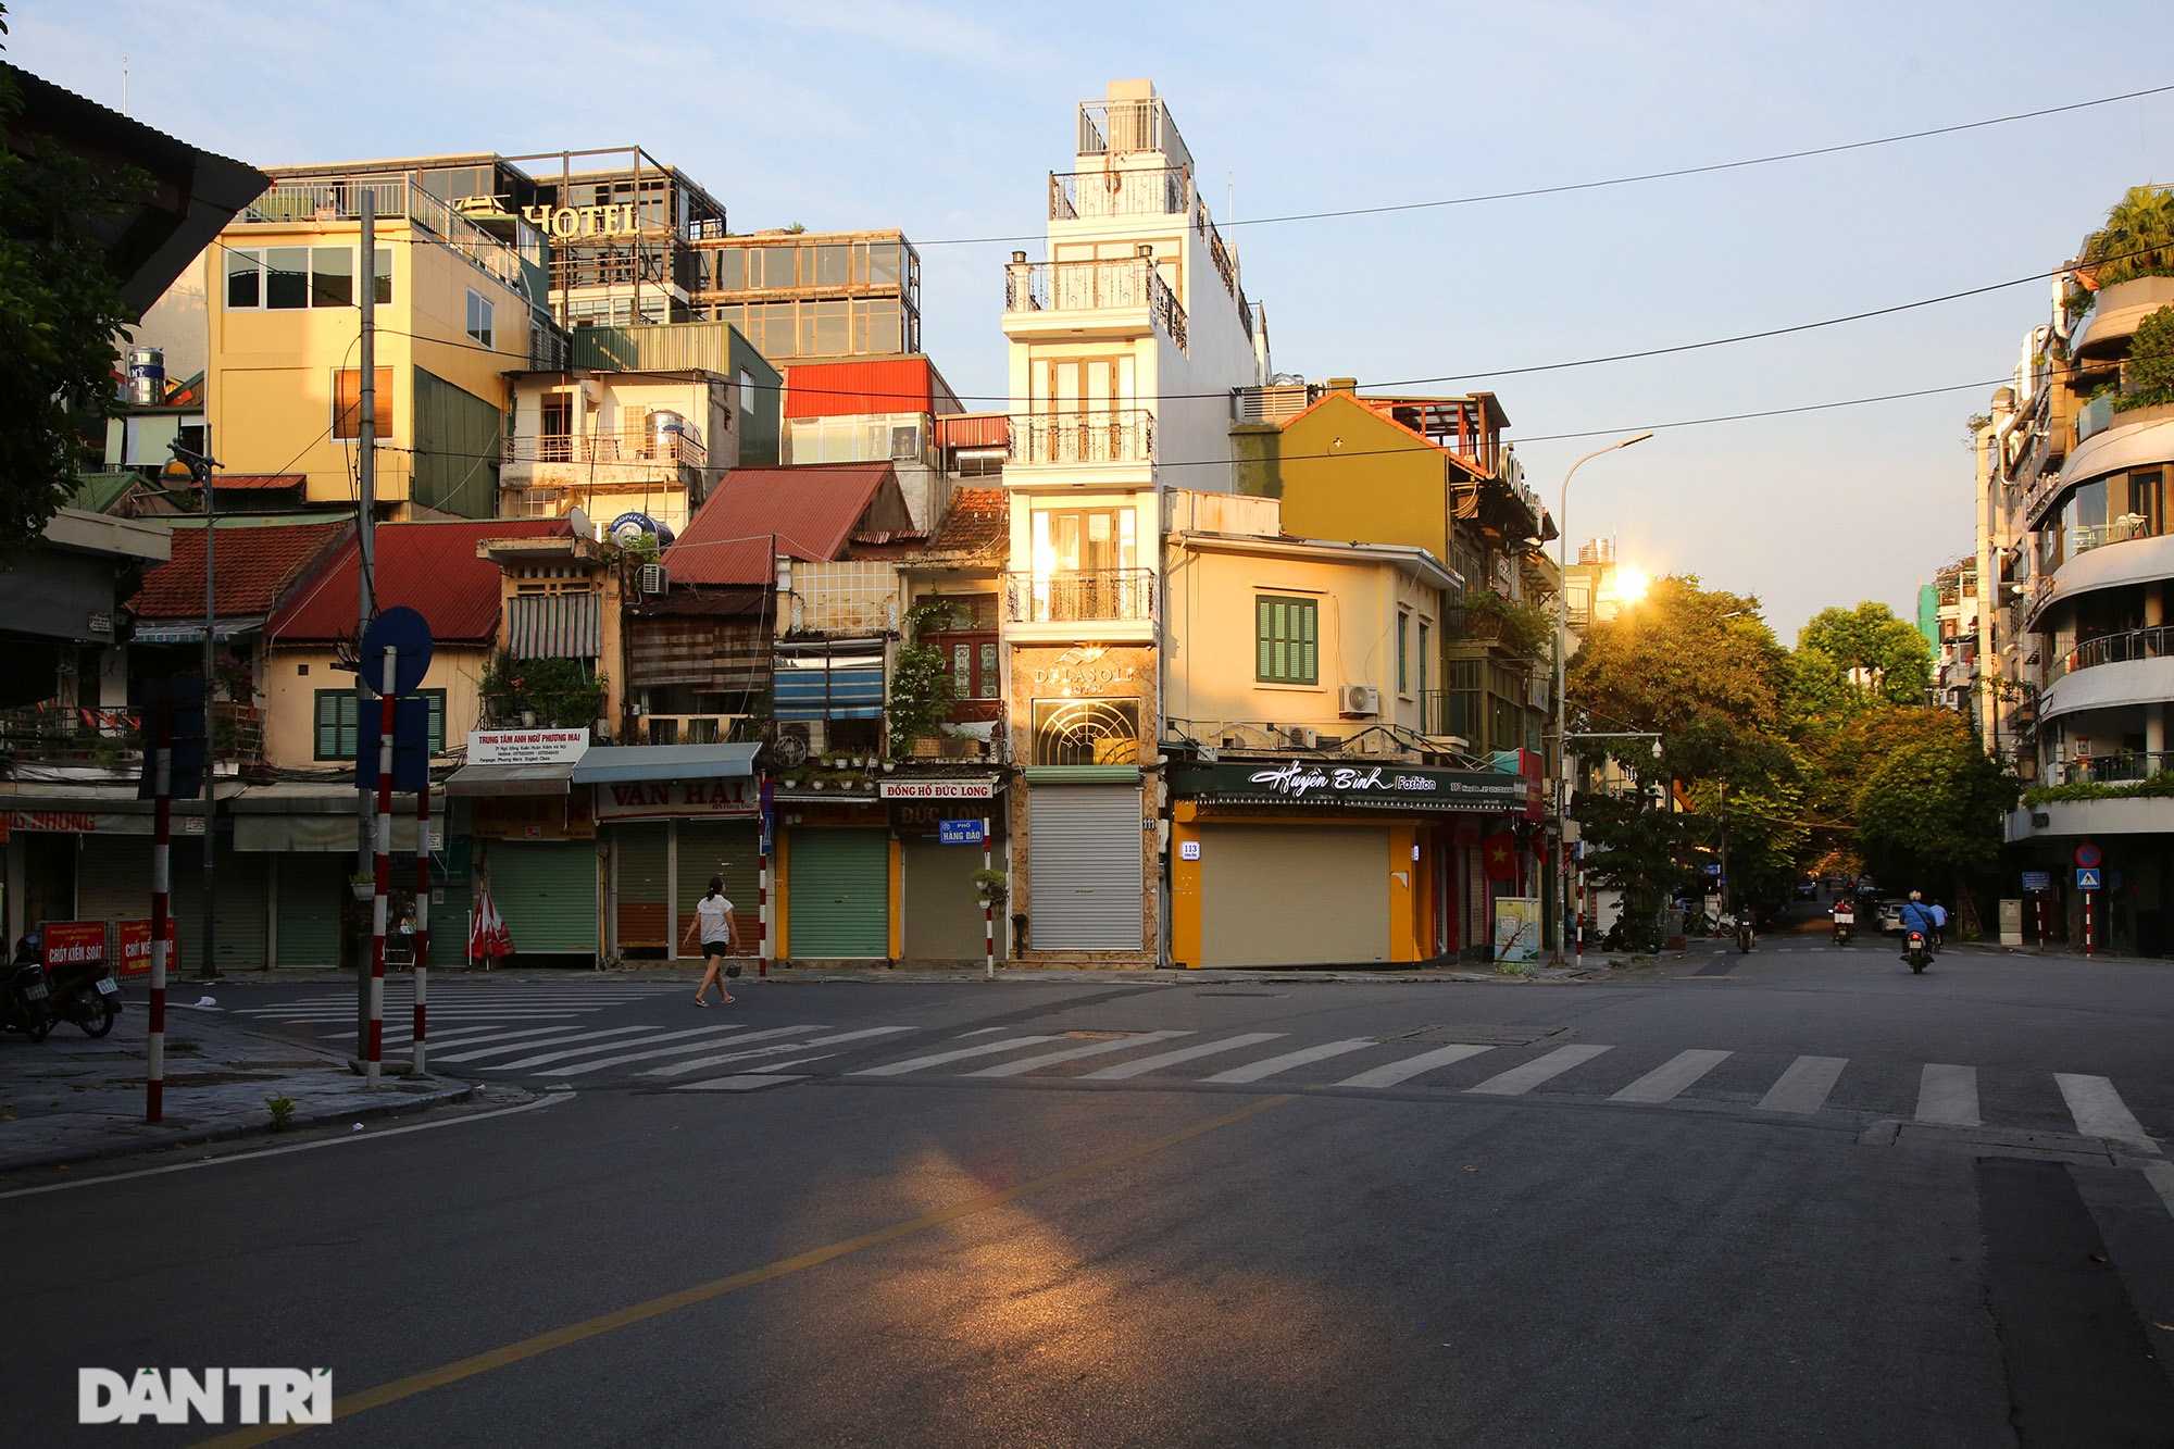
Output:
M261 1036L220 1012L198 1012L207 988L167 994L165 1120L143 1120L143 1051L150 1012L130 983L128 1005L102 1040L59 1025L43 1042L0 1036L0 1173L115 1157L180 1142L272 1131L267 1097L291 1097L291 1127L361 1123L467 1099L465 1081L402 1081L387 1064L376 1092L348 1070L346 1055ZM226 983L209 986L213 999ZM222 1001L224 1005L224 1001Z

